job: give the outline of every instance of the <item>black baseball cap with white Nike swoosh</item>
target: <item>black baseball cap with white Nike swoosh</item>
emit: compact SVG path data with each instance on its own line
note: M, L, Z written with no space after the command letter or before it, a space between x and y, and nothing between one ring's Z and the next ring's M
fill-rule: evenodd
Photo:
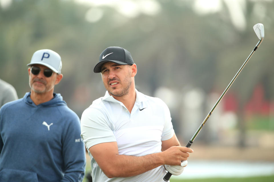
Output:
M93 69L94 73L101 73L101 66L106 62L119 65L133 65L134 61L128 50L122 47L108 47L99 56L99 63Z

